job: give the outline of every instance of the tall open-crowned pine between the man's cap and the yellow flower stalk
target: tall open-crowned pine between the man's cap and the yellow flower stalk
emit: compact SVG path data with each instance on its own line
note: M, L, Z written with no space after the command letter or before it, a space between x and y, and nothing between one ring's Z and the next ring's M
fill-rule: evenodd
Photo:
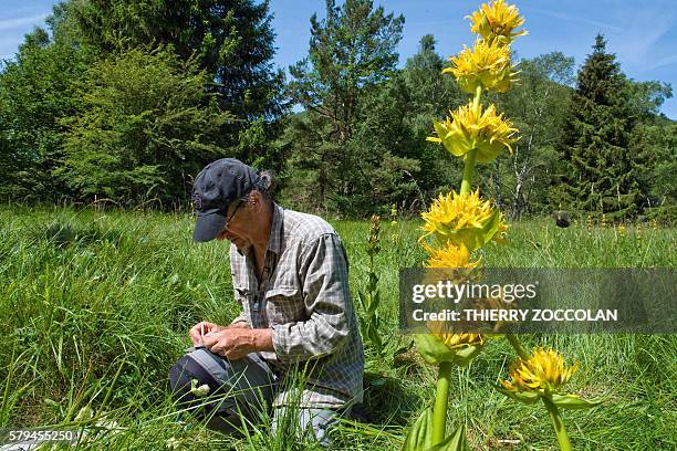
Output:
M315 208L355 212L360 193L373 192L354 140L365 98L394 73L404 17L372 0L326 0L326 17L311 17L308 57L290 66L288 95L304 112L287 129L291 166L310 181Z

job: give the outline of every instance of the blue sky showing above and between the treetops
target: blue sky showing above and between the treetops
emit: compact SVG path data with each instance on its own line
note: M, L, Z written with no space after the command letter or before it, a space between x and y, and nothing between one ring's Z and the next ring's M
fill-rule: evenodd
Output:
M44 23L52 0L1 0L0 59L11 59L23 34ZM421 35L437 39L437 51L449 56L470 44L468 21L481 1L468 0L382 0L387 11L405 15L399 44L400 64L414 54ZM580 65L591 52L594 36L603 33L607 50L617 55L621 69L638 81L658 80L673 85L677 95L677 8L674 0L515 0L529 35L520 38L514 49L522 57L551 51L574 56ZM308 52L310 17L324 13L324 0L271 0L274 13L278 54L281 67L301 60ZM677 119L677 98L666 101L662 111Z

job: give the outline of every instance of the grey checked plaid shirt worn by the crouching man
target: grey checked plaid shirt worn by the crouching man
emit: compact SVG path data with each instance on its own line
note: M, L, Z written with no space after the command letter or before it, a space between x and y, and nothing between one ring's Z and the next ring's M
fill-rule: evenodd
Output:
M362 401L364 352L341 239L323 219L273 203L264 271L230 245L236 300L252 328L272 328L274 353L260 353L282 376L274 406L338 407ZM293 366L304 369L302 392L284 388ZM290 386L294 386L293 381Z

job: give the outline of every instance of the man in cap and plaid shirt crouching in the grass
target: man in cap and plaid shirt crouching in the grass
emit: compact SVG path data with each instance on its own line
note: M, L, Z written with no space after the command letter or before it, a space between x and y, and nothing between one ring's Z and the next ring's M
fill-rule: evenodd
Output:
M173 367L171 388L225 424L257 421L270 406L275 430L293 412L299 428L327 445L327 427L362 401L364 352L347 256L326 221L281 208L270 186L269 174L232 158L195 180L194 241L230 241L242 313L228 326L190 329L196 348Z

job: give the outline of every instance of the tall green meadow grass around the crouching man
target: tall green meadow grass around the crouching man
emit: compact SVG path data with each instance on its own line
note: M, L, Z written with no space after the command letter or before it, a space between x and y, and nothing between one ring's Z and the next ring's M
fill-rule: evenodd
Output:
M366 283L368 221L332 221L351 264L353 295ZM415 220L382 227L376 256L384 336L397 339L397 269L420 265ZM313 449L270 419L242 437L177 421L168 370L189 346L197 322L229 323L228 244L194 245L191 217L152 211L0 208L0 428L86 427L97 440L79 449ZM489 266L675 268L677 229L652 224L558 229L550 219L511 224L506 245L488 245ZM395 242L393 242L395 241ZM398 243L397 243L398 242ZM563 412L576 450L677 449L677 337L533 335L580 360L569 389L604 396L592 410ZM490 343L455 375L449 427L464 421L473 450L555 450L544 407L494 391L514 352ZM436 369L414 350L393 361L367 350L368 422L345 422L335 449L402 447L409 424L433 401Z

